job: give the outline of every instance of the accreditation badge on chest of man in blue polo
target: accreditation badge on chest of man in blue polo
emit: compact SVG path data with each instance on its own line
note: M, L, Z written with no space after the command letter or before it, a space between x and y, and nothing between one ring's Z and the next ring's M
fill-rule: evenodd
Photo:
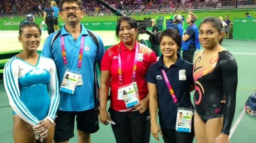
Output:
M60 91L74 94L76 84L78 82L79 74L66 70L64 74L64 78L61 82L61 88Z

